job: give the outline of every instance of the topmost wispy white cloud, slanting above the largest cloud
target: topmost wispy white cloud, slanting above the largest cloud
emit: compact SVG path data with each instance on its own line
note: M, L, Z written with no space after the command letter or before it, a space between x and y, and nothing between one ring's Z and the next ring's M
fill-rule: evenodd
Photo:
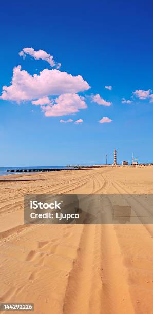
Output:
M26 54L31 55L35 60L45 60L50 64L51 67L56 67L57 69L61 67L61 63L55 62L53 60L53 56L42 49L35 51L33 48L24 48L22 51L19 52L19 55L23 56L24 59L26 57Z

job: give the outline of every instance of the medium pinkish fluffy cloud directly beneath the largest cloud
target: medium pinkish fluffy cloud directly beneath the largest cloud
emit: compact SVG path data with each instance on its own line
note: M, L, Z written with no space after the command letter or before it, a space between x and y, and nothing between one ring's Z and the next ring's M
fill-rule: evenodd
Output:
M63 94L55 99L54 104L41 106L45 116L63 116L79 112L79 109L86 109L84 97L77 94Z

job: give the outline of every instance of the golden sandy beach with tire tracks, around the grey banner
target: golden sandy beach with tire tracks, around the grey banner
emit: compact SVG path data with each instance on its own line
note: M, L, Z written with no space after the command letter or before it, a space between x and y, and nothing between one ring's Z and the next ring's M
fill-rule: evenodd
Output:
M23 222L24 194L153 194L152 167L1 179L1 302L34 303L36 314L153 313L152 225Z

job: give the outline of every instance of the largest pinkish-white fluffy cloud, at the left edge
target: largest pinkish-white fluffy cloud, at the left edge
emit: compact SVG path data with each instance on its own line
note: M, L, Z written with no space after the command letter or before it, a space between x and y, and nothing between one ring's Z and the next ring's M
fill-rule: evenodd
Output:
M77 93L89 88L81 75L72 76L56 69L44 69L39 75L32 76L19 65L13 69L11 85L3 86L1 99L21 102L49 95Z

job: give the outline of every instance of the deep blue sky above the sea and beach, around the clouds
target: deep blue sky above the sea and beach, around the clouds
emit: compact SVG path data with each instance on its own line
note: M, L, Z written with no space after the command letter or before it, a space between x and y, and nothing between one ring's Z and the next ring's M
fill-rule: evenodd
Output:
M27 47L53 55L62 64L57 71L81 75L91 88L75 91L87 108L62 116L45 116L42 106L32 104L43 93L32 100L28 91L26 101L12 101L8 94L0 99L0 166L104 163L106 153L112 163L114 148L118 162L130 161L132 152L139 162L152 162L152 7L150 1L1 4L1 91L11 85L18 65L29 75L55 69L45 60L18 55ZM93 102L96 94L111 105ZM60 95L45 96L55 106ZM112 122L99 123L103 117Z

